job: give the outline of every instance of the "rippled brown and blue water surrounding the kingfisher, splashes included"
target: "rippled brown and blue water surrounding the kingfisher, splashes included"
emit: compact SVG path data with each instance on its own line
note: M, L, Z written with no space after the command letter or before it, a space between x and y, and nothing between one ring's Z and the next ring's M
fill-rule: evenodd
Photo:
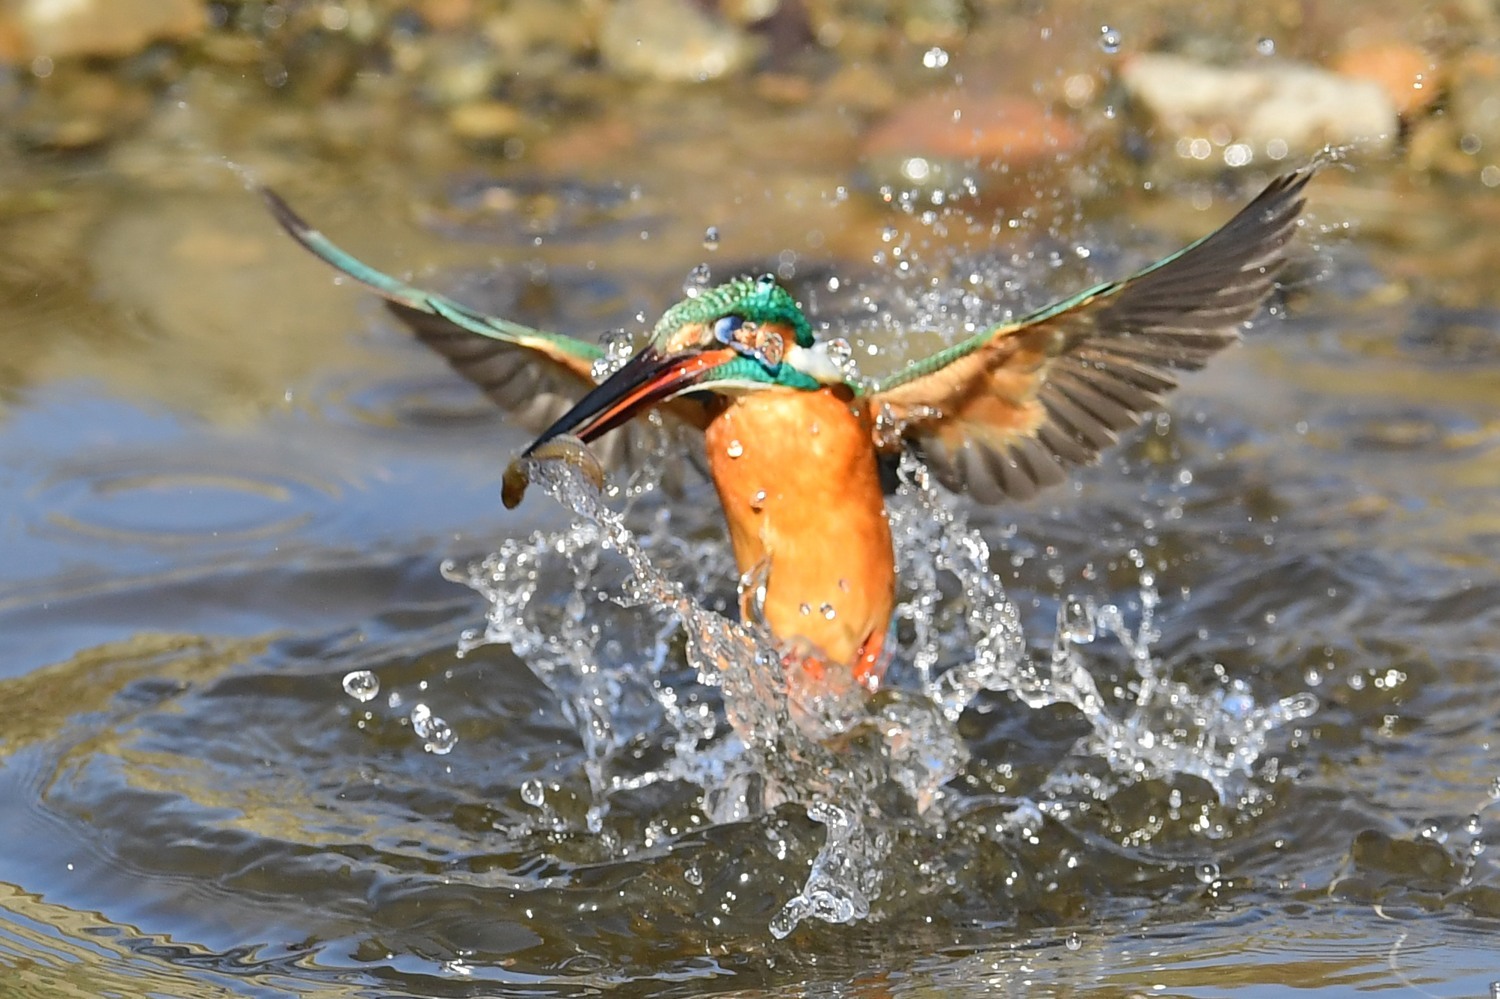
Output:
M1240 196L1168 189L1148 219L1038 194L1089 225L996 252L1002 208L872 207L830 171L732 174L759 195L705 214L668 162L634 194L428 178L416 220L352 166L286 194L375 262L576 330L772 260L868 370ZM524 435L200 170L63 170L51 243L3 220L20 994L1500 978L1500 312L1446 262L1492 249L1488 207L1330 171L1284 316L1101 466L998 510L909 470L891 690L796 704L730 621L705 486L504 512ZM556 207L495 218L484 189Z

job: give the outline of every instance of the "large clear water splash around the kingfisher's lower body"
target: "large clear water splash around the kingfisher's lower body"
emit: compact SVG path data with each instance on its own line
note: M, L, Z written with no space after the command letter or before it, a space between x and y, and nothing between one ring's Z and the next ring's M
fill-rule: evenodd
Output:
M476 566L446 567L489 603L486 627L466 633L462 650L510 645L556 694L585 748L592 832L612 795L658 782L699 788L714 824L790 804L822 826L801 891L771 920L774 936L808 918L868 916L892 832L940 830L956 813L945 806L962 804L950 786L969 760L957 722L982 692L1032 708L1071 705L1089 724L1072 758L1108 766L1104 778L1096 766L1086 776L1059 766L1035 800L1012 802L1017 828L1035 828L1044 812L1065 814L1078 796L1102 798L1152 777L1191 774L1221 801L1238 798L1270 732L1316 706L1311 696L1264 706L1242 682L1203 694L1166 675L1150 652L1158 597L1144 572L1134 628L1114 604L1070 597L1050 648L1035 652L990 568L987 542L915 460L902 465L890 502L902 580L896 663L890 688L873 699L852 680L834 688L802 682L758 614L765 567L741 579L746 614L734 621L692 596L732 578L722 542L678 537L664 512L638 534L627 526L628 508L606 507L566 464L537 464L531 476L574 520L507 542ZM618 640L604 644L602 634ZM669 678L680 669L678 639L696 687L680 674ZM1101 639L1119 644L1134 674L1110 696L1080 651ZM705 692L720 704L699 696ZM670 747L664 764L640 770L624 759L621 750L640 735Z

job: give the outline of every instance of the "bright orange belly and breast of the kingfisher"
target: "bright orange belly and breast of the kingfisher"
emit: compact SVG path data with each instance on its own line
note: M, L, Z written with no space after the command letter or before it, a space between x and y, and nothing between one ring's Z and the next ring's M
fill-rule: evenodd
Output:
M714 417L706 446L740 572L770 572L771 632L873 687L896 556L866 406L831 388L753 392Z

